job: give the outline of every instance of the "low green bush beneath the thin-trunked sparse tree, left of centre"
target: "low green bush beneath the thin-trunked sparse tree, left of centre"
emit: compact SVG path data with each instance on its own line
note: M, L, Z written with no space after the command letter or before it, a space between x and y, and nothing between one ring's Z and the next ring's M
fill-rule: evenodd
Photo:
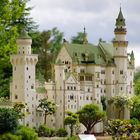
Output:
M52 137L54 136L55 131L49 128L47 125L40 125L38 128L39 137Z

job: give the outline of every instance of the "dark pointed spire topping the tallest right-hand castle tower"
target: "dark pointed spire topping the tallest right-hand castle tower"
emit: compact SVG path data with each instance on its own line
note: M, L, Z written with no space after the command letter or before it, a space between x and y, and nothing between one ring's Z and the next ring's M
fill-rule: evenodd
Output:
M125 26L125 19L122 14L121 6L118 18L116 19L116 26Z

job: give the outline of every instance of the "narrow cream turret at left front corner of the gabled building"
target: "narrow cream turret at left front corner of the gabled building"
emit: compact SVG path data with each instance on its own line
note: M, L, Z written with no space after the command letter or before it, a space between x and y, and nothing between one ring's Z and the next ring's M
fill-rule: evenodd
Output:
M56 121L56 128L64 127L64 118L65 118L65 65L58 60L57 64L55 64L55 83L56 83L56 113L55 119Z

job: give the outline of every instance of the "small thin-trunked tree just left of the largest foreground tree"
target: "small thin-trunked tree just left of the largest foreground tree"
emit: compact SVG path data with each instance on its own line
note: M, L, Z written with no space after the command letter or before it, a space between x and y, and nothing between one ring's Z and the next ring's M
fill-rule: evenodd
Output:
M75 114L75 113L72 113L72 112L67 112L66 114L67 114L68 116L65 118L64 124L65 124L65 125L69 125L70 130L71 130L70 135L71 135L71 137L72 137L74 125L76 125L76 124L79 122L79 120L78 120L78 115Z

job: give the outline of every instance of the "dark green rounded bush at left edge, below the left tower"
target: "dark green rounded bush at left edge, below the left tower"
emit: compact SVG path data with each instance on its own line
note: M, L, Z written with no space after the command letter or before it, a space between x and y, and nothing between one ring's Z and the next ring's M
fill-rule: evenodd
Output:
M9 108L0 108L0 134L15 131L17 126L17 112Z

